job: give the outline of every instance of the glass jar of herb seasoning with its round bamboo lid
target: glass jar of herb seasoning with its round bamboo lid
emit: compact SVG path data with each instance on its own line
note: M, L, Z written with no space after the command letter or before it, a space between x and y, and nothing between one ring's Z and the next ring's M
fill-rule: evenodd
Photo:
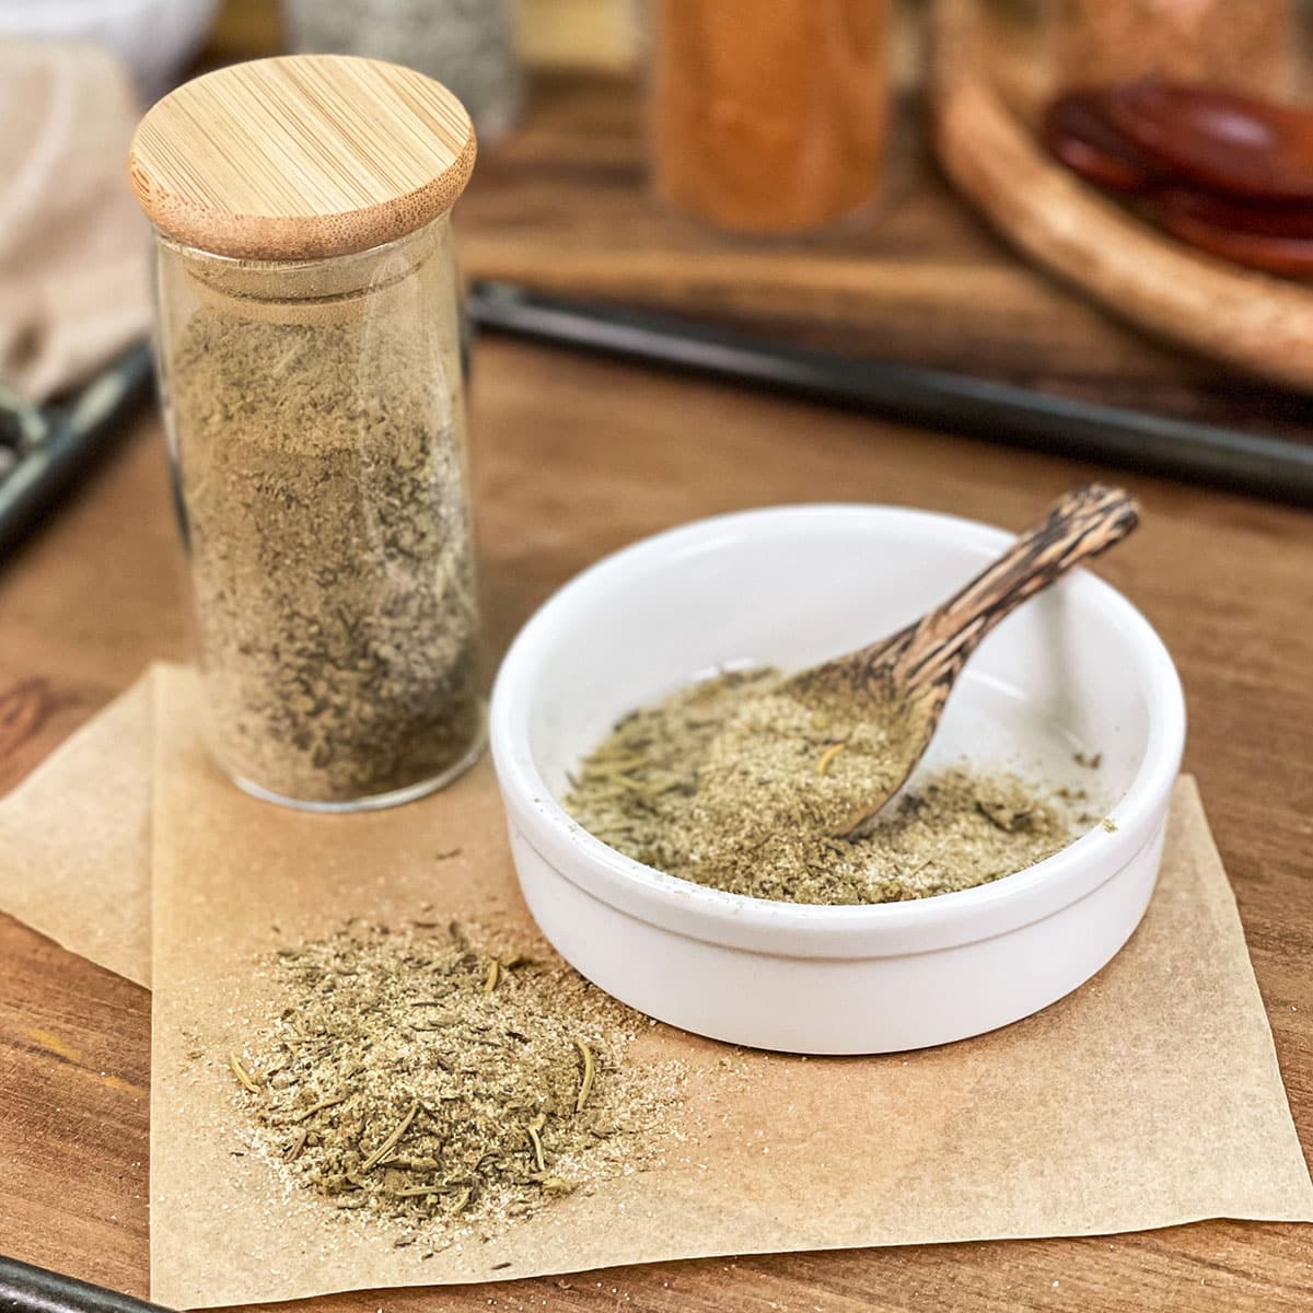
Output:
M403 802L482 746L449 210L458 100L339 55L160 101L131 177L207 738L249 793Z

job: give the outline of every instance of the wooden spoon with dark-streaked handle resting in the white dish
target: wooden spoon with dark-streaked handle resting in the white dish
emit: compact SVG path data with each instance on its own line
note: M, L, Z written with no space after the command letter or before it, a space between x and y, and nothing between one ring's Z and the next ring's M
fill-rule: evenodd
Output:
M840 718L874 723L885 733L876 792L855 796L838 772L807 769L805 786L815 802L810 814L823 818L835 835L851 835L869 821L924 755L957 676L985 635L1022 603L1073 566L1107 551L1137 524L1136 503L1120 488L1092 483L1069 492L943 605L869 647L785 680L776 696L801 704L810 716L834 721L838 709ZM769 729L767 725L764 733ZM863 788L871 788L869 773Z

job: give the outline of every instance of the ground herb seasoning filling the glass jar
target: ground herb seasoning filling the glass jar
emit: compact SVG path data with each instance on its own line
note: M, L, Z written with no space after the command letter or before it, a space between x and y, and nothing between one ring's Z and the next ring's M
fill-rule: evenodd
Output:
M234 305L168 377L211 743L299 801L435 779L479 733L460 379L404 314Z

